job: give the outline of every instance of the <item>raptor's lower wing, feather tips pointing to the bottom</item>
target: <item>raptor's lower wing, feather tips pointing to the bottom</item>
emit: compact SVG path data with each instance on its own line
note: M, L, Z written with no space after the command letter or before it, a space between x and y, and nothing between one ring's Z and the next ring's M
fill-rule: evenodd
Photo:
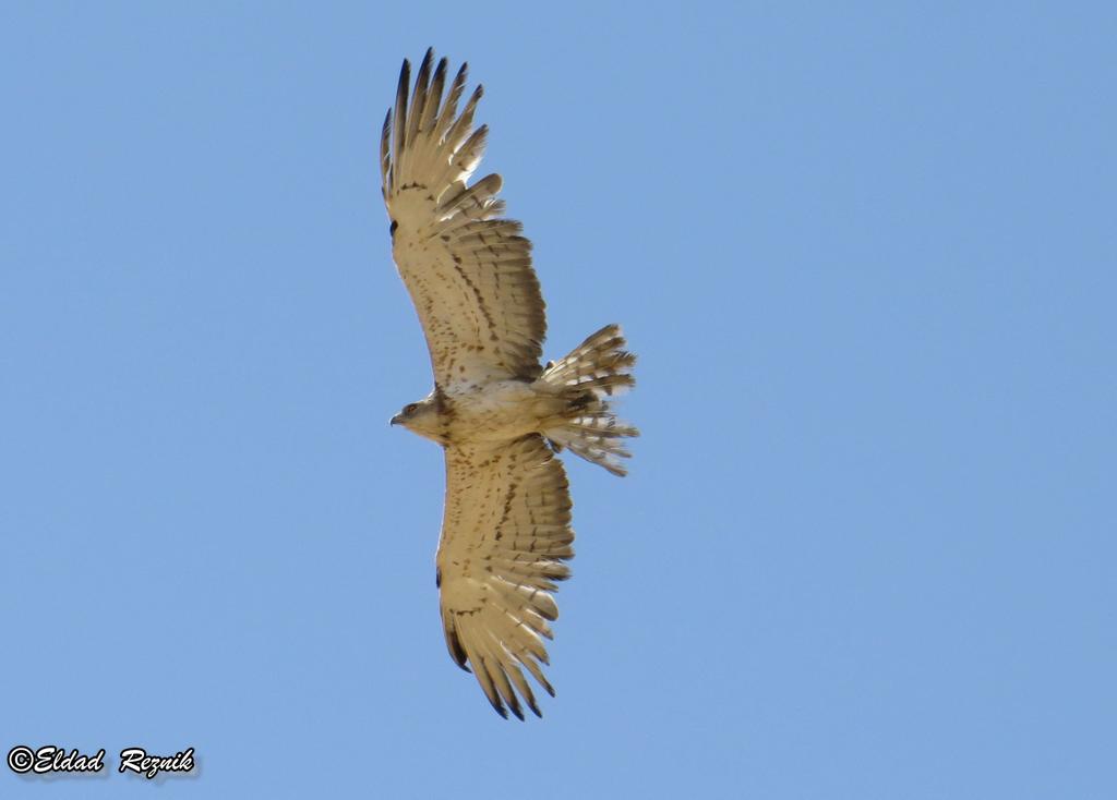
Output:
M521 698L540 715L524 669L554 695L541 637L552 638L551 591L570 577L563 561L574 555L567 486L562 462L536 434L446 450L438 549L446 644L502 716L507 706L523 720Z

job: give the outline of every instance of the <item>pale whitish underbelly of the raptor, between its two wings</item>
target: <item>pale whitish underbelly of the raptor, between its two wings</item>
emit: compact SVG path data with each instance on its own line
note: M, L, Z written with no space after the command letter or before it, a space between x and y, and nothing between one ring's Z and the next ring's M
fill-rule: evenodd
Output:
M546 398L523 380L497 380L447 393L452 442L504 442L540 430Z

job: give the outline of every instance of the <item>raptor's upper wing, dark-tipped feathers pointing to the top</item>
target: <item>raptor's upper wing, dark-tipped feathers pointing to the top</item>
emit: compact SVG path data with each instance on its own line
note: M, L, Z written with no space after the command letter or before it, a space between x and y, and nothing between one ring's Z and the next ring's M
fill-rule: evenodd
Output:
M447 60L433 68L428 50L408 96L403 62L395 107L380 146L392 254L419 312L435 383L478 384L535 378L546 335L540 281L522 226L500 219L500 176L467 186L481 160L488 128L474 129L478 86L461 113L461 66L443 98Z

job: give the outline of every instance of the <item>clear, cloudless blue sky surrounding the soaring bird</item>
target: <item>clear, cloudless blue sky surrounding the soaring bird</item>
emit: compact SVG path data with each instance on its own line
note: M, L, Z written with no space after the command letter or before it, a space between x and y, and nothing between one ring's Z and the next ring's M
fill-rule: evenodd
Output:
M1117 12L842 6L4 3L0 749L200 774L0 794L1117 797ZM376 138L428 45L547 357L641 357L523 724L388 425L431 378Z

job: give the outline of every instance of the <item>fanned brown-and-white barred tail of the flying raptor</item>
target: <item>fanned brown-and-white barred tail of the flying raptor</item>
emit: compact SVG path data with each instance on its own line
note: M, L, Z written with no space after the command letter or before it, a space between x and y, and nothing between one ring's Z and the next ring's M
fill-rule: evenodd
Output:
M628 472L621 462L631 456L624 438L640 435L633 426L617 420L607 399L636 385L631 373L636 356L624 347L620 326L607 325L569 356L548 364L538 379L566 401L556 424L543 432L551 445L556 451L570 447L614 475Z

